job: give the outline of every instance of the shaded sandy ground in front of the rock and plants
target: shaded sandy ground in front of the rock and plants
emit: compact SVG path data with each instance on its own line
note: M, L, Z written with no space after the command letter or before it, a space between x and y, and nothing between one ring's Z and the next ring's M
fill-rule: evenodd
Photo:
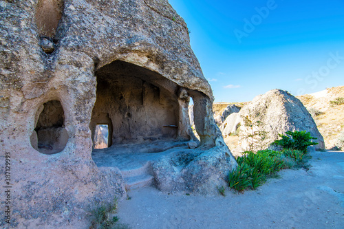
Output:
M131 190L118 215L131 228L344 228L344 152L311 155L309 171L281 171L280 178L244 194Z

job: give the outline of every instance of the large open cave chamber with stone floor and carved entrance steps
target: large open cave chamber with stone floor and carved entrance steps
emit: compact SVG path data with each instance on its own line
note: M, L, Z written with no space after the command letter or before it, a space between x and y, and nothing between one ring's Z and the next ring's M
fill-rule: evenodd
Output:
M114 61L96 71L96 102L89 128L97 166L120 169L127 188L154 184L153 163L172 154L195 154L189 122L189 92L144 67ZM97 124L108 124L108 148L95 149ZM197 139L196 139L197 140ZM197 144L196 144L197 146ZM189 161L188 161L189 162ZM178 168L178 169L180 169Z

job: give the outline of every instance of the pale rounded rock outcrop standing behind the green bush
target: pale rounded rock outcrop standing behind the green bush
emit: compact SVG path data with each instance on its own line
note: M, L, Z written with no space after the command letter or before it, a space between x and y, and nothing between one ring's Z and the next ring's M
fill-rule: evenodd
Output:
M264 95L259 95L248 105L242 107L238 116L240 118L239 146L234 149L235 152L250 149L252 138L248 138L248 134L252 131L255 133L265 131L266 133L264 140L254 140L254 145L259 149L275 149L270 144L280 138L279 134L285 134L286 131L310 132L312 137L317 138L314 142L319 144L310 146L309 150L325 149L323 136L319 133L312 116L300 100L288 91L274 89ZM253 128L245 124L244 117L253 123ZM261 124L257 124L257 121Z

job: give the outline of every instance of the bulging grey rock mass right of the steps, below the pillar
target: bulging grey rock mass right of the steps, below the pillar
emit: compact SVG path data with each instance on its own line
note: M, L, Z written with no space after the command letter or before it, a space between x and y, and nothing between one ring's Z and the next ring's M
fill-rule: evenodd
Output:
M222 153L227 148L218 138L211 149L201 146L192 153L165 155L153 164L156 185L165 192L215 194L218 187L226 186L228 171L237 165L231 153Z

